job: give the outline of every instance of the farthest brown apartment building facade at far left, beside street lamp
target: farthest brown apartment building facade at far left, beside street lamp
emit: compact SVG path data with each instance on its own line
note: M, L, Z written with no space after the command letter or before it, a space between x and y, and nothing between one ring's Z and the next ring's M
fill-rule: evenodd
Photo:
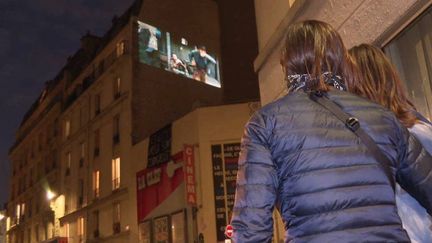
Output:
M26 114L10 150L13 164L6 212L8 242L32 242L53 236L54 215L45 194L60 189L60 90L53 82L47 83L29 111L33 114Z

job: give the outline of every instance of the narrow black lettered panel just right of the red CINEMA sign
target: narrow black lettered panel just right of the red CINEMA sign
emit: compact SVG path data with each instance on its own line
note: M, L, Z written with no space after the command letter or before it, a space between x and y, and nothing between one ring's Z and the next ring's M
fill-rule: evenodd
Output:
M212 164L213 164L213 189L215 197L216 214L216 234L217 241L225 240L225 226L227 224L225 207L225 184L224 170L222 161L222 145L212 145Z

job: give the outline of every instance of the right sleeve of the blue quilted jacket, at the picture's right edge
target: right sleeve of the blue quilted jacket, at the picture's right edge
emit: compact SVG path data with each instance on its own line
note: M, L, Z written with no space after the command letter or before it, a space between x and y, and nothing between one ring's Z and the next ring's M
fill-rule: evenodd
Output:
M400 159L396 179L432 215L432 156L413 135L407 136L406 153Z

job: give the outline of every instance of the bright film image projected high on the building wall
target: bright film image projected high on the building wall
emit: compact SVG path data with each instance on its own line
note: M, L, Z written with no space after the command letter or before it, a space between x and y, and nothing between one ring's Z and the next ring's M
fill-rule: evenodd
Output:
M205 45L189 43L183 37L138 21L140 62L221 87L219 63Z

